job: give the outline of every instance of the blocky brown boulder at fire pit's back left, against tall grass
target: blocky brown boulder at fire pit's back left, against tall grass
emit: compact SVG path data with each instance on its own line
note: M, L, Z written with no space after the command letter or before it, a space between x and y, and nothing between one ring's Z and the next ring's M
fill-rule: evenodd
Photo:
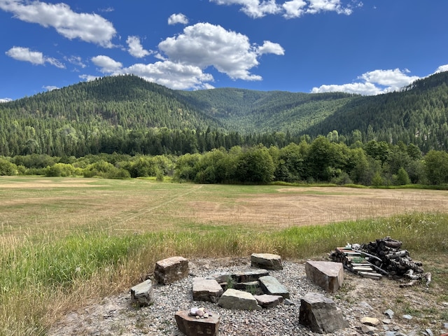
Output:
M155 263L154 276L158 283L173 283L188 276L188 260L172 257Z

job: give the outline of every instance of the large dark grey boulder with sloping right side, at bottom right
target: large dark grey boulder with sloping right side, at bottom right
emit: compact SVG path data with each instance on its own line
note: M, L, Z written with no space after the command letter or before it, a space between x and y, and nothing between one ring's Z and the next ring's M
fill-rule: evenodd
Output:
M319 293L308 293L300 300L299 323L319 333L334 332L349 326L335 302Z

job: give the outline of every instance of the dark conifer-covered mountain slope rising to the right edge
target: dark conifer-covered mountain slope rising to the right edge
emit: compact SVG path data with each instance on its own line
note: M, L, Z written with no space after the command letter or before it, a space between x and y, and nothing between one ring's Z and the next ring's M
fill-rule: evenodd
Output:
M355 97L304 133L363 136L370 140L415 144L422 151L448 150L448 72L416 80L401 92Z

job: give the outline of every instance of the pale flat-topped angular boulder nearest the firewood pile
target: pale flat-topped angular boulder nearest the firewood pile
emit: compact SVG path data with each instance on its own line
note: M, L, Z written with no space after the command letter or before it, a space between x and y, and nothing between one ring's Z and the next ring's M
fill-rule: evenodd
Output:
M342 262L308 260L305 273L308 279L330 293L335 293L344 282Z

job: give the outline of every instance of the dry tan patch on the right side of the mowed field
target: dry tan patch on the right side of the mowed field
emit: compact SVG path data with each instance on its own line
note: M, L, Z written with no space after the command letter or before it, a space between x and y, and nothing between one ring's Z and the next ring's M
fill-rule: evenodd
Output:
M278 193L244 195L234 202L194 201L201 221L245 223L287 228L376 218L416 211L448 212L448 191L356 189L334 187L279 188Z

